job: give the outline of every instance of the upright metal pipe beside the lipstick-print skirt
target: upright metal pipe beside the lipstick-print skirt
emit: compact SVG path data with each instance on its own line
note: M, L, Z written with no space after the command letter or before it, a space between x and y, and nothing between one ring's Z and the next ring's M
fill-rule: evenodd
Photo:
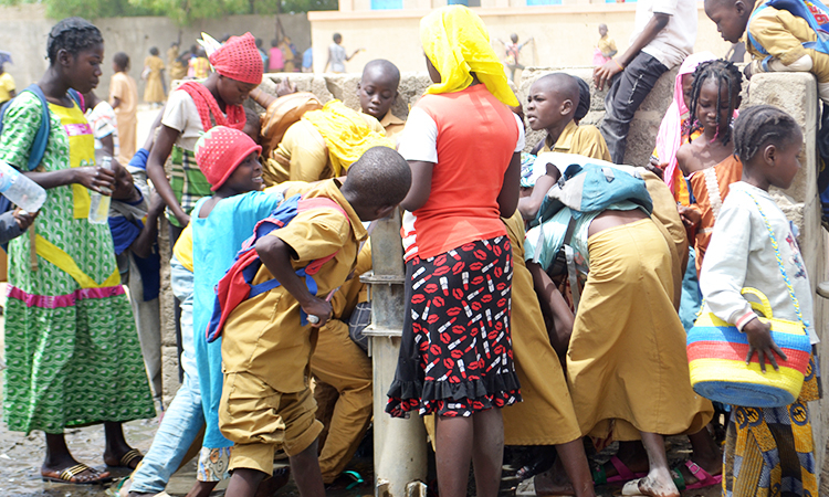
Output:
M417 412L409 419L386 414L386 393L395 379L403 328L403 251L400 214L376 221L371 234L372 273L363 276L371 295L368 353L374 366L375 497L424 497L427 440Z

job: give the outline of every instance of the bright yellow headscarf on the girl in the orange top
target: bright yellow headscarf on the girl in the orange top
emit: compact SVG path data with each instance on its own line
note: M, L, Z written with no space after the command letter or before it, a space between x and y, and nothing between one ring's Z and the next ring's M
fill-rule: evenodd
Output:
M420 43L441 78L427 93L465 89L472 84L472 72L499 101L511 107L518 105L504 66L490 45L486 27L476 13L463 6L433 11L420 20Z

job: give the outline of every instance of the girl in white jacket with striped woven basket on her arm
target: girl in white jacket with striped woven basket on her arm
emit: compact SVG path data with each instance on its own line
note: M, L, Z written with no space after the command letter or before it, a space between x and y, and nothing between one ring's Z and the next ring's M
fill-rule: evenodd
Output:
M731 186L723 202L700 275L703 311L743 331L749 346L746 362L759 362L764 371L766 360L776 370L776 357L786 356L772 338L769 325L757 319L741 295L742 288L763 292L775 318L800 322L812 346L818 342L797 232L768 193L769 187L785 190L791 186L800 168L802 142L800 127L778 108L758 105L741 114L734 125L734 148L743 162L743 180ZM793 404L733 406L725 441L724 495L818 495L807 403L819 399L816 364L812 356L800 396Z

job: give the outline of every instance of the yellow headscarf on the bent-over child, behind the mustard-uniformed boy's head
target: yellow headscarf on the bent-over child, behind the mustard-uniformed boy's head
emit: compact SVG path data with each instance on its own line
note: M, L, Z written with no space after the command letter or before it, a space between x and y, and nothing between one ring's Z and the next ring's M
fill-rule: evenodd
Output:
M321 110L311 110L302 116L323 135L328 146L328 157L334 175L359 159L371 147L395 148L395 142L372 130L356 110L339 101L330 101Z

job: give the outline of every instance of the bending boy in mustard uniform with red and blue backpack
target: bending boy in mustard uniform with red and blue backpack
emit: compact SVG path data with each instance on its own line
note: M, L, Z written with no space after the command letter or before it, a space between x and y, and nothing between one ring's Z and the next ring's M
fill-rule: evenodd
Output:
M325 296L345 283L366 237L363 221L384 218L406 197L411 172L403 158L375 147L351 165L345 183L323 181L305 198L328 198L343 211L300 212L286 226L255 242L263 266L252 284L276 278L281 285L241 303L224 325L224 387L219 408L222 434L235 443L227 496L253 496L284 448L303 497L323 496L317 461L316 404L308 388L308 364L318 328L332 316ZM295 271L335 254L314 276L316 295ZM311 326L302 326L300 310Z

